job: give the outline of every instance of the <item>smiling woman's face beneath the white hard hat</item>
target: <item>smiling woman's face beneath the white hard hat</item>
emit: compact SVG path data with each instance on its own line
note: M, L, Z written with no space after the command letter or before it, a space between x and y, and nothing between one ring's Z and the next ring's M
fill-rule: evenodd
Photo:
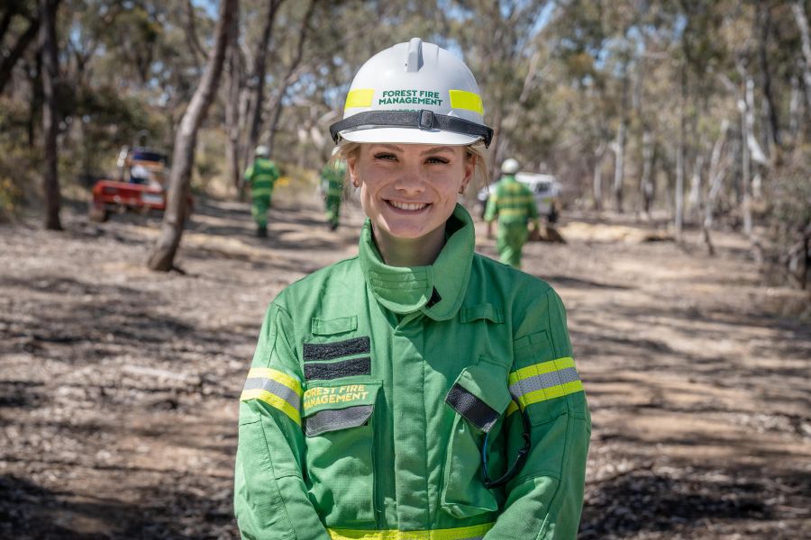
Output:
M364 143L347 159L376 234L419 239L442 231L473 175L464 147Z

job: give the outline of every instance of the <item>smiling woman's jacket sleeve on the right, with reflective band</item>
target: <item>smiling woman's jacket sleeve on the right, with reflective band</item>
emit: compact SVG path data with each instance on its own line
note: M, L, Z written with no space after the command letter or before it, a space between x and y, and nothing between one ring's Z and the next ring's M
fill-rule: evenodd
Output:
M505 509L485 538L573 540L591 420L558 294L550 289L533 302L518 332L510 392L530 420L531 449L521 472L506 485ZM523 446L521 414L516 409L506 419L507 455Z

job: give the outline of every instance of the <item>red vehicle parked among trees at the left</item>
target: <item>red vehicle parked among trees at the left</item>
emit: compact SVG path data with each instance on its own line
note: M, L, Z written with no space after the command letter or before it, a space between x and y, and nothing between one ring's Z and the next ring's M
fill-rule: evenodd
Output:
M93 186L90 220L106 221L112 211L166 209L169 160L165 154L124 147L118 156L118 171L118 180L99 180Z

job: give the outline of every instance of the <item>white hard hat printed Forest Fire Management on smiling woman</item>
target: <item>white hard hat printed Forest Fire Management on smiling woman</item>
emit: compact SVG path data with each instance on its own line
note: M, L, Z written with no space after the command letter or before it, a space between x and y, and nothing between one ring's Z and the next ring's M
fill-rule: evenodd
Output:
M413 38L369 58L355 78L343 120L330 126L337 143L490 144L481 93L465 63Z

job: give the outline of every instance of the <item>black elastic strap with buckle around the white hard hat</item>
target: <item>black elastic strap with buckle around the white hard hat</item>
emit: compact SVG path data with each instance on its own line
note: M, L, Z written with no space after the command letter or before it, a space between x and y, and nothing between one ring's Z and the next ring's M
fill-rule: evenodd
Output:
M330 126L330 135L337 144L341 139L342 130L351 128L418 128L420 130L443 130L480 137L485 147L490 146L493 139L493 130L488 126L478 124L475 121L448 116L446 114L434 114L433 111L423 109L422 111L367 111L353 114L342 121L336 121Z

